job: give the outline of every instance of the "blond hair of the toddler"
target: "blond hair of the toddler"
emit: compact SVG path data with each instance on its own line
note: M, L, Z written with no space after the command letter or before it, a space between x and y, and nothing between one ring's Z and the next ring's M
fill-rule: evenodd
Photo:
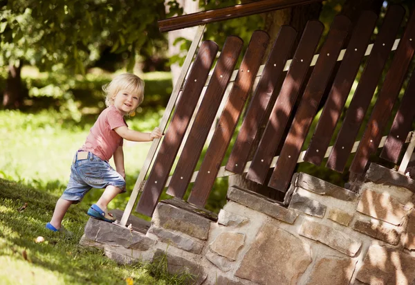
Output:
M138 96L138 105L144 100L144 81L132 73L122 73L102 86L105 93L105 104L110 107L114 104L114 97L120 90L136 94Z

